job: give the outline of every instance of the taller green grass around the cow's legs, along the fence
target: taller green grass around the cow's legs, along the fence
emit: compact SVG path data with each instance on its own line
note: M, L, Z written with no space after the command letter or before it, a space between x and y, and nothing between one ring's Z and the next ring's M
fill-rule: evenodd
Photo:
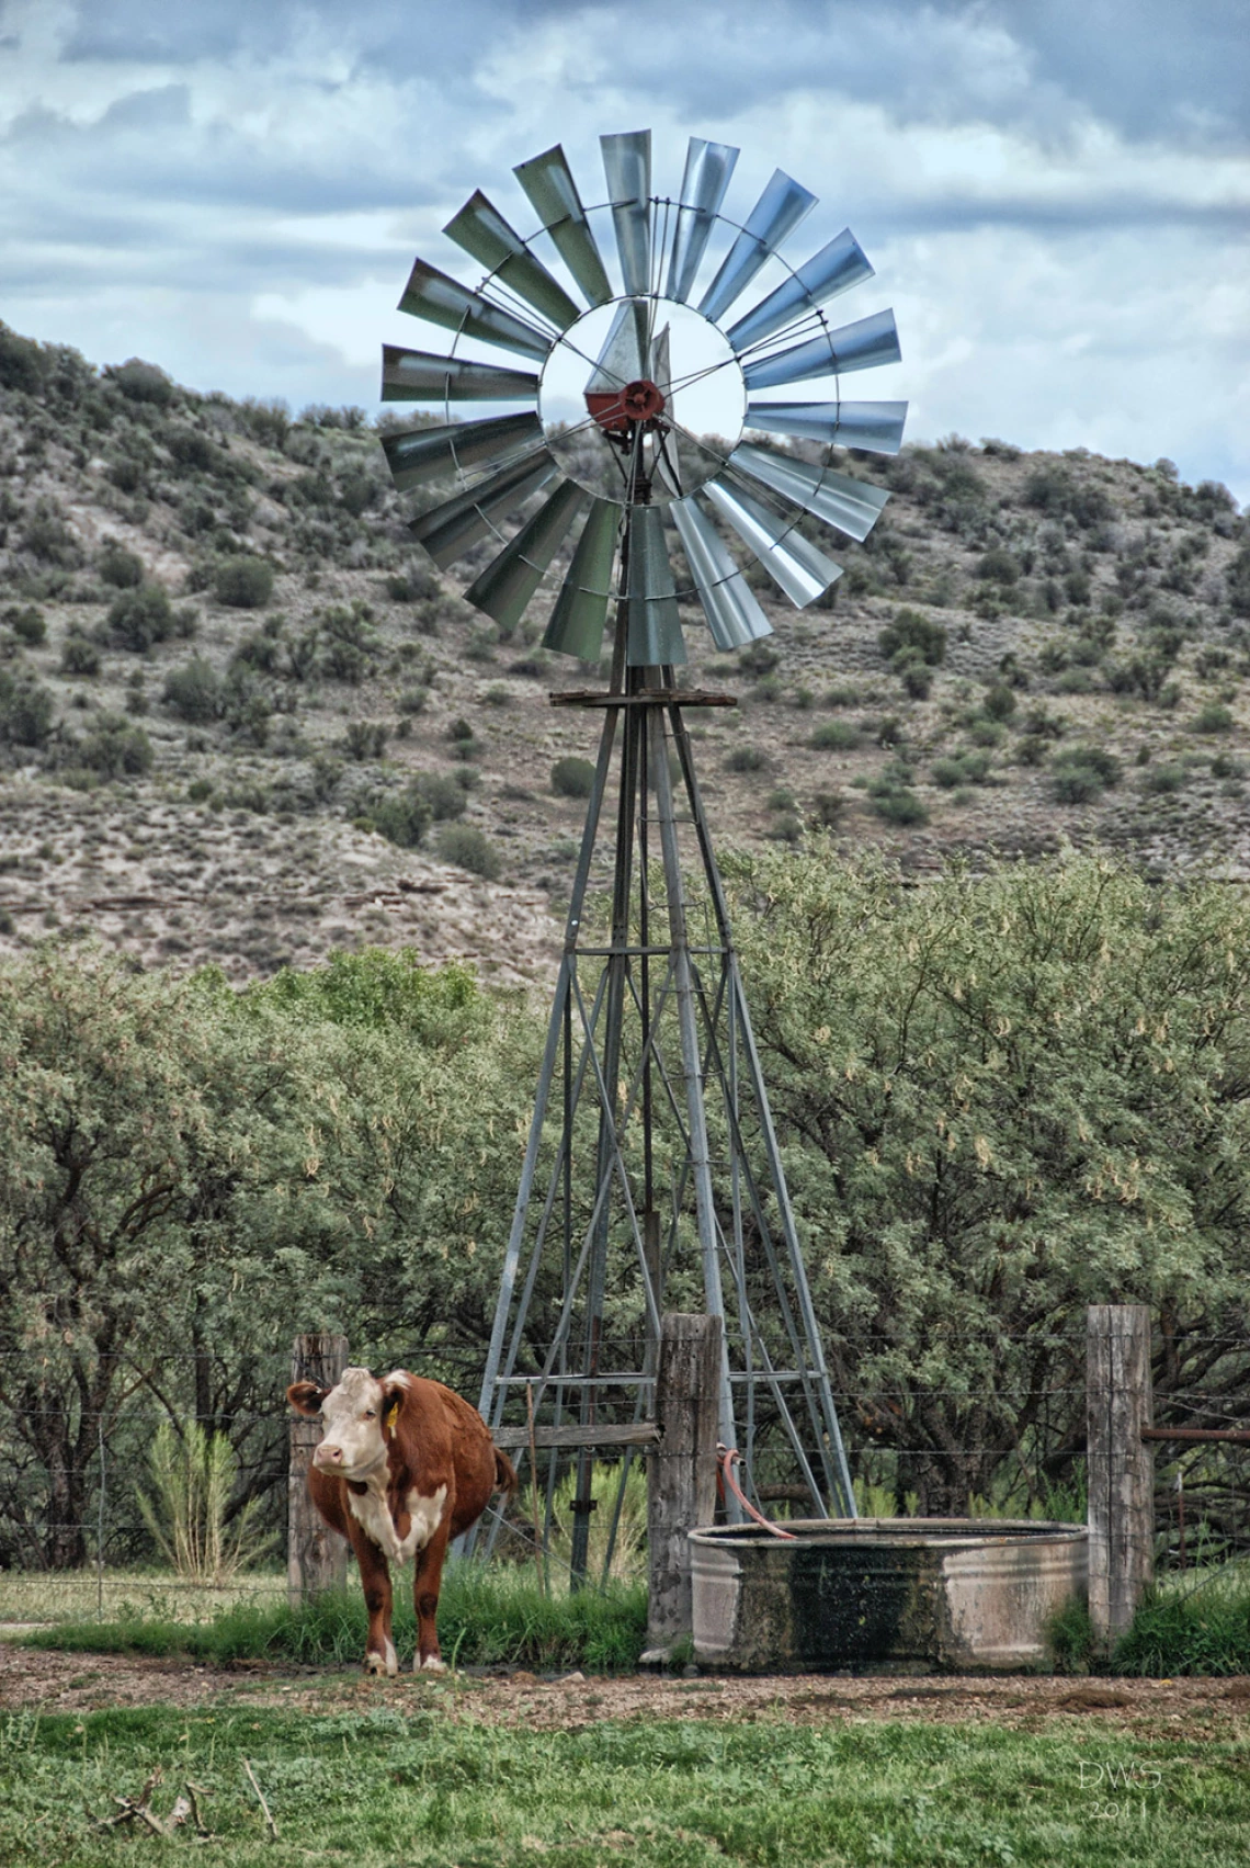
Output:
M637 1666L646 1631L646 1590L617 1584L600 1595L547 1597L533 1571L448 1565L439 1599L439 1644L447 1661L465 1666L510 1663L538 1670L626 1672ZM361 1661L364 1603L359 1588L325 1595L306 1608L282 1603L239 1603L211 1621L174 1616L121 1616L116 1621L60 1621L26 1636L34 1648L86 1653L189 1655L196 1661L267 1657L316 1666ZM411 1661L415 1623L411 1592L396 1590L394 1640Z

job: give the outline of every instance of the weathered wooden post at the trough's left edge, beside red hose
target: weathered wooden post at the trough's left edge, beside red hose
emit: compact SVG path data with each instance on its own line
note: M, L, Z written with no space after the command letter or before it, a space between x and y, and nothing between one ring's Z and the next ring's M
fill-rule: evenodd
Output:
M673 1311L660 1326L656 1422L646 1455L648 1606L643 1661L693 1633L686 1534L716 1515L721 1319Z

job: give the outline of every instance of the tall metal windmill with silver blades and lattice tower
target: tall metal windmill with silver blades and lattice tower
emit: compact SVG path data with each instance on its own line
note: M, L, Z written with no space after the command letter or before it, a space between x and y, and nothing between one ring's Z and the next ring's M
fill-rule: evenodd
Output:
M383 446L396 488L428 502L454 482L411 531L439 568L467 566L467 600L504 633L546 601L544 646L583 663L611 641L605 687L551 695L600 712L602 732L480 1395L493 1427L529 1420L531 1453L536 1420L577 1448L575 1577L592 1451L628 1448L645 1420L673 1295L723 1319L719 1429L747 1487L788 1461L817 1511L856 1511L686 725L734 700L678 671L682 607L717 650L772 633L753 566L800 609L833 585L809 534L863 540L888 495L831 450L895 454L906 415L843 400L841 379L895 362L899 340L889 310L826 316L873 273L848 230L781 260L805 187L775 170L736 222L736 149L693 136L671 200L652 192L650 131L600 142L602 205L559 146L514 170L533 234L482 192L465 202L445 232L486 276L469 290L415 262L400 310L454 342L385 346L381 390L441 407ZM774 398L790 385L815 387Z

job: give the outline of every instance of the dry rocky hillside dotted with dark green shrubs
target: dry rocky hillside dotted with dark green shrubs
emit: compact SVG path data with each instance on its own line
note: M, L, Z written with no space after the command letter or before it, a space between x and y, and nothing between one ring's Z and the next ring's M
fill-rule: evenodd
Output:
M1250 876L1250 531L1168 461L949 437L828 607L688 678L717 841L929 870L1102 842ZM95 932L232 977L359 941L544 979L594 671L510 641L405 531L361 411L291 420L0 327L0 947ZM757 581L757 572L751 572Z

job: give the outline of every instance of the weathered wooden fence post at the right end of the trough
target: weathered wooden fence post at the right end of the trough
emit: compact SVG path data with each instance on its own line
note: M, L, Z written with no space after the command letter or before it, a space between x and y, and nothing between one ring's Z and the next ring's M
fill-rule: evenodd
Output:
M1155 1575L1151 1313L1091 1304L1086 1334L1089 1620L1110 1648Z

